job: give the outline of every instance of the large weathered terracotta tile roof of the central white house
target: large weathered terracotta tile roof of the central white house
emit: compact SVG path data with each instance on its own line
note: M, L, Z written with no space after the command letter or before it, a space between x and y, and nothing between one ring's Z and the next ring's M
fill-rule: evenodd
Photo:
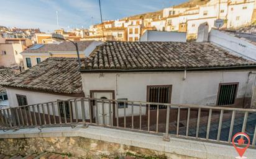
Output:
M211 43L107 41L86 58L81 69L188 69L247 65L256 63Z

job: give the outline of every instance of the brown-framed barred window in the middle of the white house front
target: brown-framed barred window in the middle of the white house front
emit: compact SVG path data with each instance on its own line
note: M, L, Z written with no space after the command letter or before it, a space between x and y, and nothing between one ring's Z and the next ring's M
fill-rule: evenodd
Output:
M147 101L156 103L171 103L171 85L149 85L147 86ZM167 106L159 105L159 109ZM150 110L156 110L157 105L150 105Z

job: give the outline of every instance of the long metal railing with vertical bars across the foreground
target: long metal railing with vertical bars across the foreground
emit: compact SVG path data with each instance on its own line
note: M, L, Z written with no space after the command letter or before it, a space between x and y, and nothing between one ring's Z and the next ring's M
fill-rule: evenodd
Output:
M150 109L151 108L151 109ZM0 110L0 129L89 124L231 144L237 132L256 142L256 110L145 101L78 98Z

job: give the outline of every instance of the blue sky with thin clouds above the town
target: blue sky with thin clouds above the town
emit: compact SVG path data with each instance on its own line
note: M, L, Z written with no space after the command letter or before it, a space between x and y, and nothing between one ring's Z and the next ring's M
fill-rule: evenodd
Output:
M130 15L159 11L186 0L101 0L103 20L117 20ZM0 0L0 25L40 28L88 28L100 22L98 0ZM58 11L59 27L56 11Z

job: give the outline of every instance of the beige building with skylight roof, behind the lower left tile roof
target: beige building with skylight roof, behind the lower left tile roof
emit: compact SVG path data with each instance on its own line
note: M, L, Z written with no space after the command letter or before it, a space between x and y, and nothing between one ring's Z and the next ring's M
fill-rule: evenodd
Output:
M101 44L100 41L76 41L76 43L80 58L89 56L89 53ZM24 59L24 69L29 69L47 58L77 58L76 47L70 41L36 44L25 49L21 54Z

